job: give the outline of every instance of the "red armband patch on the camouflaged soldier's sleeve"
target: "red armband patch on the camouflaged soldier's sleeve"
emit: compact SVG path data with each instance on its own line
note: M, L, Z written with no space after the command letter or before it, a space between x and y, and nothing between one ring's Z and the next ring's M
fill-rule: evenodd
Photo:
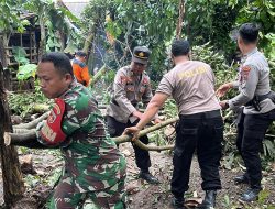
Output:
M41 129L41 136L50 144L63 142L66 134L62 130L62 120L65 112L65 101L63 99L55 99L54 107Z

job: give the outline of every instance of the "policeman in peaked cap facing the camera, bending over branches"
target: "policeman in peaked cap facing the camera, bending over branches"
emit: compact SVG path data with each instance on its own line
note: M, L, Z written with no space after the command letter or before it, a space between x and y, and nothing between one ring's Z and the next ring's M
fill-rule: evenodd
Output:
M112 100L107 108L107 124L110 135L119 136L125 128L132 127L139 122L142 112L139 111L138 103L147 105L152 98L150 77L144 72L151 52L145 46L136 46L133 51L131 65L124 66L117 72ZM160 119L155 118L155 122ZM148 144L148 138L140 139L144 144ZM151 166L148 151L134 145L135 162L141 169L140 177L151 184L157 184L158 179L154 177L148 167Z

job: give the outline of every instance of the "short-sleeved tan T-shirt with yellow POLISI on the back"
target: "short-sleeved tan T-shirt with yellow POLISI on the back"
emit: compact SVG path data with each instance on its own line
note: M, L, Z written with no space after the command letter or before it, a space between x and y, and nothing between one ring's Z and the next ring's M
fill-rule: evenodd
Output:
M187 61L176 65L164 75L156 92L163 92L176 100L179 114L219 110L215 95L215 75L209 65Z

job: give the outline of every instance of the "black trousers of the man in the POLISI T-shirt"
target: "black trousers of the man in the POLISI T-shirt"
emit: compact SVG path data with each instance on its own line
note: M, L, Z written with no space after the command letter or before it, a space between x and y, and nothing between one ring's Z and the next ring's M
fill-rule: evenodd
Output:
M176 133L170 184L173 195L183 197L189 188L190 165L195 150L201 169L202 189L221 189L219 165L223 121L220 111L180 116Z

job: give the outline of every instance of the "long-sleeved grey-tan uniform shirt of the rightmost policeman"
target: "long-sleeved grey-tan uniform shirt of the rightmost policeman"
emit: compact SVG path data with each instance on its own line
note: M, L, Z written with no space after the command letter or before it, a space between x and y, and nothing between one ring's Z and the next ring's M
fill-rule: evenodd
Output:
M238 110L239 107L251 101L254 96L266 95L271 91L268 63L264 55L252 50L243 58L239 69L239 79L233 82L234 87L239 88L239 95L229 100L229 107L232 110ZM257 111L253 106L245 106L243 112L245 114L265 113L275 109L275 105L268 98L260 102L261 111Z

